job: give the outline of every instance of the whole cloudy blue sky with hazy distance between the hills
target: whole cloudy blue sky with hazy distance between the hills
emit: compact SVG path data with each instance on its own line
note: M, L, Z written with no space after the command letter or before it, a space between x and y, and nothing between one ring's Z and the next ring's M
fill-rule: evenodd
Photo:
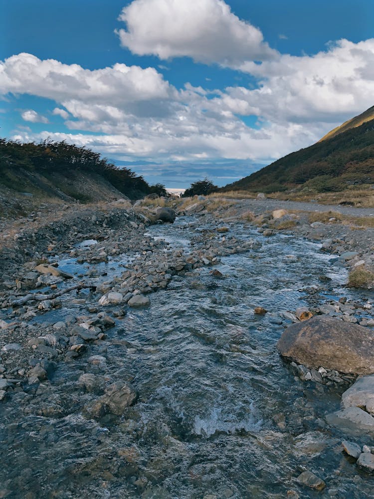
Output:
M373 0L0 0L0 136L234 182L374 105Z

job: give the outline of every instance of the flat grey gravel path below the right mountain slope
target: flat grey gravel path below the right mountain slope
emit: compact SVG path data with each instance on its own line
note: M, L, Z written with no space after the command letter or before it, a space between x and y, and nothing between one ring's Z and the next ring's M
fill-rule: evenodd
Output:
M303 203L298 201L281 201L277 199L234 199L240 204L245 204L248 209L254 211L276 210L284 208L286 210L304 210L308 212L339 212L342 215L352 217L371 217L374 216L374 208L353 208L351 206L339 205L320 205L318 203Z

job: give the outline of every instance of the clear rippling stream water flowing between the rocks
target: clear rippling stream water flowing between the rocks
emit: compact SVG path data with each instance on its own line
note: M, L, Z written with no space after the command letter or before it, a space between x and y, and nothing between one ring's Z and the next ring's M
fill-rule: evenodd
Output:
M209 227L182 218L149 233L188 251L201 229ZM277 323L282 312L363 296L347 295L346 270L318 244L281 234L266 239L239 224L231 233L262 247L223 257L214 267L222 278L211 267L175 276L151 295L149 308L118 320L105 342L59 365L39 398L60 413L22 414L14 401L2 406L2 478L10 491L2 497L285 498L289 490L302 498L374 497L373 480L342 455L344 436L324 421L339 409L346 387L302 382L276 351L289 323ZM121 261L128 260L109 262L108 269ZM308 292L321 286L320 275L332 280L322 292ZM79 305L64 303L61 316L79 313ZM256 316L257 305L271 313ZM37 320L59 320L55 313ZM92 355L104 358L90 364ZM94 395L78 388L83 372L131 381L138 402L123 418L85 418ZM333 492L300 488L295 478L303 469L322 476Z

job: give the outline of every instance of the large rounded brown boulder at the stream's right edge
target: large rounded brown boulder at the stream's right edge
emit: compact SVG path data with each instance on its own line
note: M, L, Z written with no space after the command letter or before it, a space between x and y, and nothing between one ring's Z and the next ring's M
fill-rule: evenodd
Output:
M331 317L315 316L292 324L283 332L277 347L282 356L309 368L374 373L373 332Z

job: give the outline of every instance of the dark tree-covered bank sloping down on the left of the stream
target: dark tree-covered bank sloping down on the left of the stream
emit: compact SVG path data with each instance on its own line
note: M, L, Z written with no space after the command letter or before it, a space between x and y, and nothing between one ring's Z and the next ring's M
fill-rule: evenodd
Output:
M0 138L0 188L29 196L91 202L126 196L139 199L164 186L150 186L128 168L65 141L22 144Z

